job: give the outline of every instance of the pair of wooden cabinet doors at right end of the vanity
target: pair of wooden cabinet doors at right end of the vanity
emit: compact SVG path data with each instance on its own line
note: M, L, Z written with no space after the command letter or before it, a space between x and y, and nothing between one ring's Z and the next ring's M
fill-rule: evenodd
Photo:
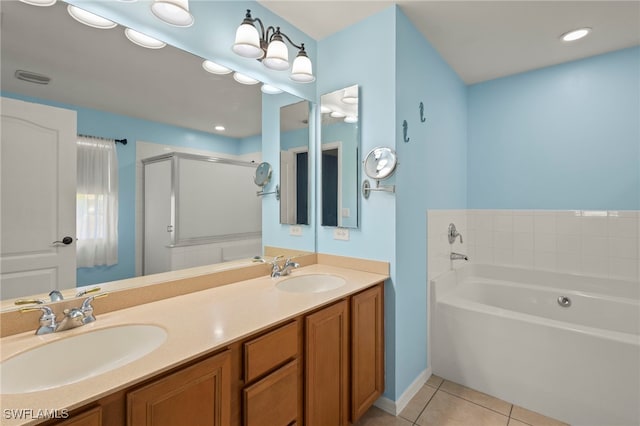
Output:
M355 423L384 391L384 284L305 318L305 425Z

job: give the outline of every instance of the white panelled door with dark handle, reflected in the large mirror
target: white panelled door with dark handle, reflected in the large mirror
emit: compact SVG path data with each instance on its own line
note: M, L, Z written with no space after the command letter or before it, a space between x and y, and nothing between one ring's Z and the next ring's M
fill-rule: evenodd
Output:
M75 287L76 112L1 102L0 296Z

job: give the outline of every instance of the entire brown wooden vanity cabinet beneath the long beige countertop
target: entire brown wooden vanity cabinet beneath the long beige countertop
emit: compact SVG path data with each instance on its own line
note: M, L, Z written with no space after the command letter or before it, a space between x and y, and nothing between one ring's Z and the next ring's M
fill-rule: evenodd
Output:
M384 283L74 410L57 426L342 426L384 391Z

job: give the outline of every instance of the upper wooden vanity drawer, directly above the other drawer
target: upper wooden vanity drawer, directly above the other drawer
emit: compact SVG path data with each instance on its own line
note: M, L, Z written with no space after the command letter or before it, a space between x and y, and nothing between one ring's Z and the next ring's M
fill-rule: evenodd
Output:
M249 383L298 355L298 323L292 322L244 344L244 380Z

